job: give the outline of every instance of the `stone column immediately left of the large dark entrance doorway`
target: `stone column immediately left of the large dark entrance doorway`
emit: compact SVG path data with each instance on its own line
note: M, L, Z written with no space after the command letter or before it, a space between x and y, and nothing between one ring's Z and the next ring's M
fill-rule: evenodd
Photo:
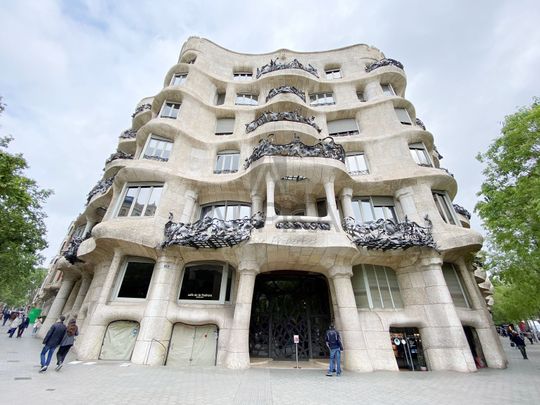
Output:
M249 319L251 317L251 301L253 300L253 288L255 277L259 272L255 264L241 263L238 268L240 281L236 293L234 317L229 332L227 345L227 368L249 368Z

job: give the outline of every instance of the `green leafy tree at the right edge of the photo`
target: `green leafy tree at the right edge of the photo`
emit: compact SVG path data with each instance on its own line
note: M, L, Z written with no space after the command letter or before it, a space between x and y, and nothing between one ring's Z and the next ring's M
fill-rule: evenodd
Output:
M540 314L540 99L505 118L477 159L486 164L476 212L488 231L486 269L493 315L509 322Z

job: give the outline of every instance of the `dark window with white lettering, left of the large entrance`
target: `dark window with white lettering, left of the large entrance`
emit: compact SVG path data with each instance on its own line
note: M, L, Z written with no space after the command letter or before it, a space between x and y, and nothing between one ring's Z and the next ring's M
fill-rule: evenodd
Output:
M234 268L228 264L206 263L188 265L184 270L180 300L213 301L231 300Z

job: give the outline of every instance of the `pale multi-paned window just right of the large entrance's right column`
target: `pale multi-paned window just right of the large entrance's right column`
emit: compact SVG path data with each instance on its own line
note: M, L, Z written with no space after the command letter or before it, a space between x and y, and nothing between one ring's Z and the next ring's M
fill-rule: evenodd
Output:
M389 267L360 264L351 278L358 308L403 308L396 273Z

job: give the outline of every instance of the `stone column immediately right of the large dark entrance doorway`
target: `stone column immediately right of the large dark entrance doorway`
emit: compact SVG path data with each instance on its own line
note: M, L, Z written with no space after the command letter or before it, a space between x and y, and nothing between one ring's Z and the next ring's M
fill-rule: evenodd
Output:
M373 371L364 332L360 327L358 309L352 288L351 266L335 266L329 270L334 284L336 301L341 321L344 367L351 371Z

